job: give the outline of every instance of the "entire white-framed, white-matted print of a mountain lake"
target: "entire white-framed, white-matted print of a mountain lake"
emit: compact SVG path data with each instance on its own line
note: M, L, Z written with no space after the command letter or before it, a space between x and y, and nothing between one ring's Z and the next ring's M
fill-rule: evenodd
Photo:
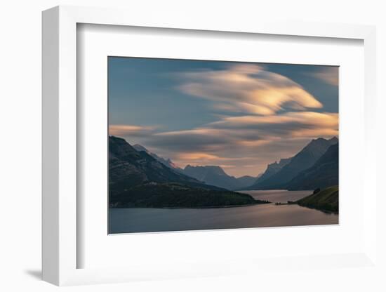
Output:
M377 269L374 50L371 26L44 11L44 280Z

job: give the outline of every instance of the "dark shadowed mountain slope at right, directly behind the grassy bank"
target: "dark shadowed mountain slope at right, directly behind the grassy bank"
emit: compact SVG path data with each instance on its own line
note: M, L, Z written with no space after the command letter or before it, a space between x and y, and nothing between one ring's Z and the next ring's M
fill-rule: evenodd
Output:
M328 147L313 166L301 171L286 186L287 190L315 190L324 189L331 185L338 185L339 151L338 143Z

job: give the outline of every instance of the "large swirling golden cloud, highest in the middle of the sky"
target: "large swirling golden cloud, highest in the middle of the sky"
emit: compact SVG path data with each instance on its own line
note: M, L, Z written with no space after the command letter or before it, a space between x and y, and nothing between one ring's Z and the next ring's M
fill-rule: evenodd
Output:
M233 65L222 70L182 72L183 93L217 102L229 112L272 115L280 110L323 105L295 81L259 65Z

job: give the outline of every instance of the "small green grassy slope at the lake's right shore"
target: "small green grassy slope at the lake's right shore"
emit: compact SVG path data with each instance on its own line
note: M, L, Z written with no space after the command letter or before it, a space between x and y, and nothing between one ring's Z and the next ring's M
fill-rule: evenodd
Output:
M338 186L327 187L317 194L311 194L303 199L296 201L300 206L316 208L321 211L338 213L339 211L339 190Z

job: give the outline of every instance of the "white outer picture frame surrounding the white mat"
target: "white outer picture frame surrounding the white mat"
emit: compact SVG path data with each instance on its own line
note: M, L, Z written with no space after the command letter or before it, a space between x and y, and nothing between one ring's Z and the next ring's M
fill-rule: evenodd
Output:
M358 39L364 41L364 187L368 201L363 205L364 248L357 253L331 255L295 254L291 265L304 266L312 262L314 267L334 268L340 265L368 267L376 263L376 183L375 178L375 27L363 25L340 25L302 22L243 23L197 21L192 18L165 20L161 15L143 19L135 11L105 8L81 8L58 6L43 13L43 279L56 285L96 284L136 279L168 279L225 275L242 272L241 263L251 269L286 265L288 260L266 258L258 262L243 258L233 259L234 265L222 263L197 263L172 267L154 263L131 267L79 268L77 255L82 253L77 237L79 201L76 197L79 182L76 178L78 144L76 136L79 111L77 110L77 24L119 25L129 27L158 27L194 29L199 31L234 32L248 34L271 34L306 36L318 38ZM371 171L372 170L372 171ZM213 237L218 234L213 234ZM229 233L228 237L234 236ZM288 266L289 268L289 266Z

